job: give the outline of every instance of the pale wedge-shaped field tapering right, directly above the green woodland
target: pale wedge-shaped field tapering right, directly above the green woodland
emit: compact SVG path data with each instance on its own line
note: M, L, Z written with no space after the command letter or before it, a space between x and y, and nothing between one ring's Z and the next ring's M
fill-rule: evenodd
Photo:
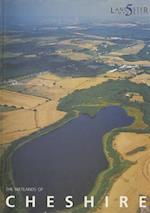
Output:
M89 88L97 84L101 84L107 81L108 78L105 78L103 75L98 77L58 77L54 74L43 74L37 78L32 79L27 83L28 87L39 86L40 93L42 94L42 85L43 94L45 88L49 90L49 97L54 101L58 101L61 97L66 96L67 94L75 91L76 89ZM38 92L38 88L37 88Z

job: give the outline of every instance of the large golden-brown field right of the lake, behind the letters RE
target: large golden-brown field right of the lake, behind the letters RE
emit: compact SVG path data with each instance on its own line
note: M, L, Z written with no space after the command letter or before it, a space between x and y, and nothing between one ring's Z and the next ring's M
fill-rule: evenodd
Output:
M134 162L113 184L110 192L109 207L104 205L97 209L97 213L136 213L138 210L138 196L150 196L150 134L120 133L113 142L114 148L123 159ZM144 146L144 151L128 155L130 151ZM119 207L119 197L127 196L128 208Z

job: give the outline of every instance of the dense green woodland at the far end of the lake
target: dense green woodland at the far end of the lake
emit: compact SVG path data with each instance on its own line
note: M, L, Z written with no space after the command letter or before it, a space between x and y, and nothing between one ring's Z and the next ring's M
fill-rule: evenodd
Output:
M144 97L143 103L130 102L126 96L128 92L137 92ZM90 89L77 90L72 94L61 99L58 109L63 111L80 110L83 112L82 106L99 104L101 105L104 100L108 103L120 103L121 105L129 105L139 108L144 113L144 120L150 124L150 89L147 85L132 83L128 80L109 80L101 85L91 87ZM100 107L99 107L100 108ZM95 110L93 108L93 110ZM97 110L97 108L96 108Z

